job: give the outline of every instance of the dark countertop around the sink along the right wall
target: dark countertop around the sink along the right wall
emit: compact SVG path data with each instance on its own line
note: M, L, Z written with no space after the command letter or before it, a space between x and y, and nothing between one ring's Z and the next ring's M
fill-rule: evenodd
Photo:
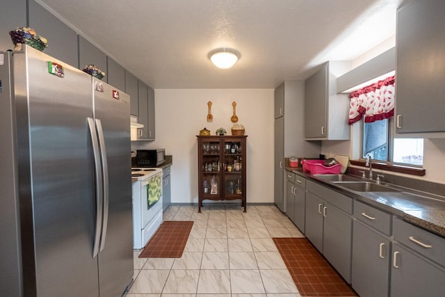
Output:
M385 183L382 183L382 185L390 186L398 191L357 192L302 172L302 168L286 166L284 169L328 186L350 198L366 202L391 214L395 214L413 225L445 238L445 198L443 196ZM360 177L357 178L360 179ZM364 181L368 182L369 180Z

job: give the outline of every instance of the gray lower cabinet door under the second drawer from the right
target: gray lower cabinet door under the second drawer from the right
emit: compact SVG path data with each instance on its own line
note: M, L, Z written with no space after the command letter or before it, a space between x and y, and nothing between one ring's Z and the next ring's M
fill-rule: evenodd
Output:
M388 296L390 241L354 221L351 284L362 297Z

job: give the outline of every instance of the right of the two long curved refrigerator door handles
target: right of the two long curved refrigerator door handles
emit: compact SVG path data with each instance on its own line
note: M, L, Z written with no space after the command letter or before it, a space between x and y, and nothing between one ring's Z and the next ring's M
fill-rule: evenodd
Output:
M97 136L99 136L100 155L102 159L102 182L104 188L104 215L102 217L102 234L100 239L99 252L102 252L105 247L106 228L108 227L108 160L106 159L105 138L104 130L102 129L102 122L99 119L95 119Z

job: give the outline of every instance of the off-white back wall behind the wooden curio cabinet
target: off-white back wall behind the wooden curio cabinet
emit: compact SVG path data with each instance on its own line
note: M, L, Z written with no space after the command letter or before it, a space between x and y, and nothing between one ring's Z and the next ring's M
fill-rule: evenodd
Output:
M197 138L206 127L230 135L232 102L248 135L247 201L273 202L273 89L155 90L156 141L132 141L131 150L165 147L173 156L172 202L197 202ZM213 122L207 122L207 102Z

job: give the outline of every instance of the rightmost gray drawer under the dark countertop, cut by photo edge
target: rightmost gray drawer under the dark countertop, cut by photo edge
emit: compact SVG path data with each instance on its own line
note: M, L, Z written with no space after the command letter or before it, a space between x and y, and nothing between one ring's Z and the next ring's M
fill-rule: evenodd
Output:
M445 266L445 239L411 225L400 218L393 220L394 241L419 252L421 255Z

